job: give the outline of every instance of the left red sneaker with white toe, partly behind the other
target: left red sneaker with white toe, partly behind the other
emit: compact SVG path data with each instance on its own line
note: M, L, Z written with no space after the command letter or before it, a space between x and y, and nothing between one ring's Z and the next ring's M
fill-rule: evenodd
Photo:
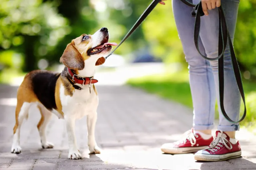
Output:
M196 152L208 148L213 141L213 137L203 139L200 134L194 133L194 129L185 132L185 139L174 143L165 143L161 146L161 151L169 154L180 154Z

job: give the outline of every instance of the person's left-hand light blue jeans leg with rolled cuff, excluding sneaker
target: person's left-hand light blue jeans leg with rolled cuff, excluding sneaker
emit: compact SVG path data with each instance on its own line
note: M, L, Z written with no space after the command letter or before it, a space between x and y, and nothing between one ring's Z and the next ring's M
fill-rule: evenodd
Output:
M173 0L173 13L185 59L189 65L189 83L193 101L193 127L195 130L211 133L214 127L215 85L209 61L203 59L194 44L193 8L180 0ZM204 47L199 40L199 48Z

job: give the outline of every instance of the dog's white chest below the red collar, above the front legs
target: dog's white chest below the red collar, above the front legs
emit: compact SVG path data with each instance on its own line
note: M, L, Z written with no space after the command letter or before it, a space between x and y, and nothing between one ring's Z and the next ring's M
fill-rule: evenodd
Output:
M80 119L85 115L96 112L98 106L98 96L93 88L87 86L82 90L75 89L72 96L64 94L64 87L60 89L60 99L64 116L72 116Z

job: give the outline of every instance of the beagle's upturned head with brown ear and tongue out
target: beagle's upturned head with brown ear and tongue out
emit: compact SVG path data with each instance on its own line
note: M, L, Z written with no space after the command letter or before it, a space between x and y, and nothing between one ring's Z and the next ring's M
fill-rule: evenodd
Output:
M70 69L83 70L84 61L93 57L98 59L95 65L101 65L105 62L103 56L111 51L112 46L117 45L109 43L108 38L107 28L101 28L93 35L82 34L67 45L60 62Z

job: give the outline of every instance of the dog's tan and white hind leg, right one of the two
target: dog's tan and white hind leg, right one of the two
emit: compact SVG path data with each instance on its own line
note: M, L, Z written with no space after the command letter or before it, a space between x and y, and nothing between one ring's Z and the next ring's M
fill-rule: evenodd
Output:
M47 108L45 108L42 104L37 105L37 107L39 108L39 111L41 113L41 119L37 124L37 128L41 138L42 148L43 149L53 148L54 145L47 142L46 136L45 136L45 128L49 120L51 119L52 113Z

